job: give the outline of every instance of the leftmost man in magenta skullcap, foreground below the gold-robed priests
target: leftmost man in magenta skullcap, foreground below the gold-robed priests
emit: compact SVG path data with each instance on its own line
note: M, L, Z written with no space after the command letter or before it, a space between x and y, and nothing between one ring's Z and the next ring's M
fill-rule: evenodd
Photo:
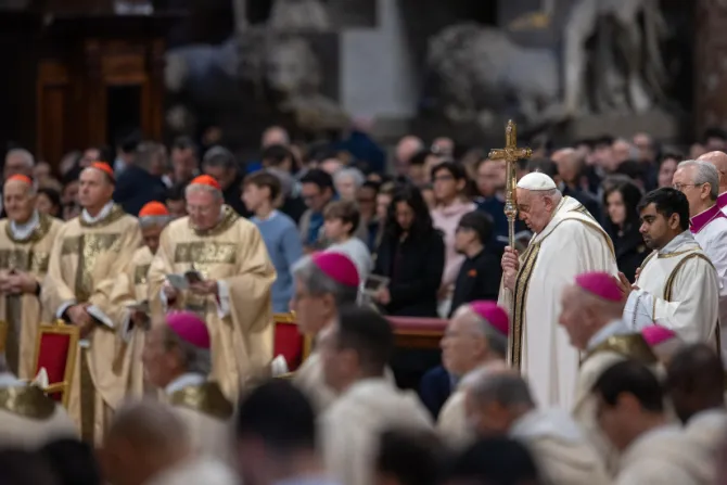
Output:
M192 450L230 461L232 404L208 381L211 339L191 311L173 312L149 331L142 361L149 381L164 390L167 403L187 425Z

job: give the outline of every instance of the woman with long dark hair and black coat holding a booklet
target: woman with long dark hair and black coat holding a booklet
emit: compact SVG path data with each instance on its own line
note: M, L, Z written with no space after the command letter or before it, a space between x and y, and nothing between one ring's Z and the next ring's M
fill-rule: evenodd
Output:
M419 189L404 186L388 207L373 273L390 279L373 299L388 315L436 317L444 271L444 239L434 229Z

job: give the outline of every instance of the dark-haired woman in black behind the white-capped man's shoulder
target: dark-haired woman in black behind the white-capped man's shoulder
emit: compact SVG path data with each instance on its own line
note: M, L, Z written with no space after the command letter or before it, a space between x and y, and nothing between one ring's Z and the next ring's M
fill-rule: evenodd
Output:
M639 232L637 206L642 195L641 190L632 182L616 183L603 194L607 216L603 226L613 240L618 269L628 281L634 281L636 269L649 254Z

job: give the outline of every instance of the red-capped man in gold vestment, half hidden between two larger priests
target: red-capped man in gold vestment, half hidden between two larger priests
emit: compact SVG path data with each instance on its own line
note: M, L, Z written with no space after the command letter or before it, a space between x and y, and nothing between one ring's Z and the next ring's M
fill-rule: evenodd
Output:
M149 305L149 268L158 250L160 235L170 220L169 210L161 202L150 202L141 208L139 227L144 243L133 253L115 284L109 288L112 306L117 311L114 319L122 322L124 344L114 358L117 370L128 375L127 397L156 394L154 386L144 379L141 353L152 318ZM158 308L161 306L157 305ZM156 315L157 318L161 316ZM124 363L127 366L124 367Z

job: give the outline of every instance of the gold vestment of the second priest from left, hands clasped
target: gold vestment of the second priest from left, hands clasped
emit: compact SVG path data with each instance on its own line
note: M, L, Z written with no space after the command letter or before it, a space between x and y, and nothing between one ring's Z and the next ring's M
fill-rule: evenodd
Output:
M79 344L68 411L87 441L99 443L126 393L126 376L114 358L124 345L119 309L109 295L140 245L139 222L114 205L98 221L87 222L81 216L67 221L51 252L41 292L43 305L58 312L71 303L88 303L114 324L98 323Z

